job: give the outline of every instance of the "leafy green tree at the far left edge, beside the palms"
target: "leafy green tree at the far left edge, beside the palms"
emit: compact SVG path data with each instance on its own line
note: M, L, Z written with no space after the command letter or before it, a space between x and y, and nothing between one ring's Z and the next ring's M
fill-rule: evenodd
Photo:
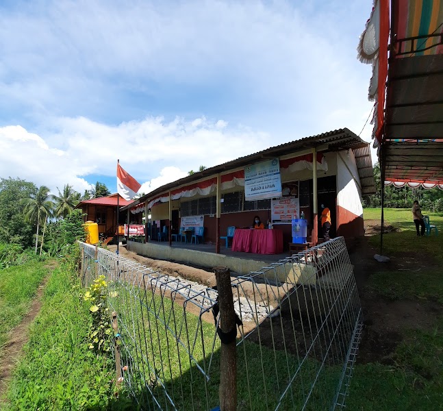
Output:
M32 244L35 224L26 221L22 199L36 195L33 183L23 179L0 178L0 242L15 243L23 247Z

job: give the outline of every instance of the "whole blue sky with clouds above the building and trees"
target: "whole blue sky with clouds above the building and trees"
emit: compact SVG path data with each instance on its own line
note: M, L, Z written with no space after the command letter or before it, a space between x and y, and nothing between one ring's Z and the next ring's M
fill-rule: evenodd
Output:
M372 0L0 1L0 177L150 192L372 110ZM370 142L372 125L361 137ZM372 161L375 162L372 150Z

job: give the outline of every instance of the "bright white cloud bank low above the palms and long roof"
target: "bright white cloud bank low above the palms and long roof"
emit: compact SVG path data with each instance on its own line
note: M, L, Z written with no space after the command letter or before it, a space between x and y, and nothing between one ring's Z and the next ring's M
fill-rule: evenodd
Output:
M143 184L140 192L185 177L199 166L215 166L269 146L269 136L245 127L220 129L200 121L147 118L110 126L85 119L60 119L45 137L21 126L0 127L0 176L38 185L89 188L82 176L115 175L116 160ZM59 140L62 148L55 147ZM246 142L246 143L245 143ZM248 144L247 142L251 142Z

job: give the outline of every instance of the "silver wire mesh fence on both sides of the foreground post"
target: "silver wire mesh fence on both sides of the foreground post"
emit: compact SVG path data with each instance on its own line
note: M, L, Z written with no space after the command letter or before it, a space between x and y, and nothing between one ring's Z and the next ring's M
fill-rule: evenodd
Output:
M108 282L124 384L145 410L212 410L220 384L218 292L81 243L81 276ZM362 313L343 238L231 277L238 410L345 405ZM220 296L221 297L221 296ZM240 323L240 322L239 322ZM235 370L233 370L233 373Z

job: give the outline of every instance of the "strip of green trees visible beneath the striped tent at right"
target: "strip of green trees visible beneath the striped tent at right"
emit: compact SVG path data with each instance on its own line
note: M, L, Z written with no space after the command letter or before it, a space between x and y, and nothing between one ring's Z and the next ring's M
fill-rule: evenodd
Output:
M381 207L381 171L378 162L374 164L373 170L376 192L373 195L364 196L364 206ZM443 190L439 188L426 190L421 186L417 188L385 186L386 208L412 208L415 200L420 202L422 210L443 212Z

